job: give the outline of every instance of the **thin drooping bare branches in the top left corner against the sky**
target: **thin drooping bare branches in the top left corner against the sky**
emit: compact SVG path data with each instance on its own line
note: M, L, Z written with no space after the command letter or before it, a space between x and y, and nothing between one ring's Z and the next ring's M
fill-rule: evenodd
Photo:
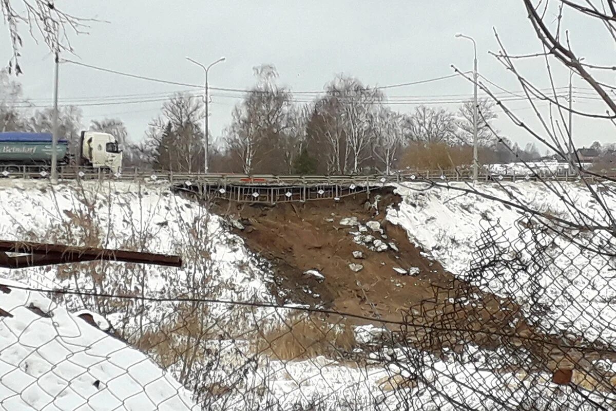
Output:
M23 39L20 33L23 26L34 39L42 38L50 51L73 52L69 34L79 35L86 33L92 19L76 17L75 15L59 9L54 0L2 0L0 10L4 23L9 28L9 38L12 47L12 57L9 60L9 74L22 73L19 64L20 50Z

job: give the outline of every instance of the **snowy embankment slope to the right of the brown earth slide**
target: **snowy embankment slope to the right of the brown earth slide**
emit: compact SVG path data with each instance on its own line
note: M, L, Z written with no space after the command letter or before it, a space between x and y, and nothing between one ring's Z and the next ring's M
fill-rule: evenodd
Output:
M405 228L412 242L453 274L493 293L513 295L522 304L545 304L548 317L530 317L541 320L548 330L568 330L590 340L616 343L616 332L612 331L616 329L616 287L610 285L616 261L585 250L588 245L613 247L614 238L585 230L557 230L556 234L553 230L529 229L520 223L522 211L516 207L456 187L469 188L461 183L448 187L398 185L396 192L403 200L398 210L389 210L387 219ZM586 213L585 221L606 223L604 210L583 185L554 183L552 187ZM616 187L609 188L598 187L607 207L616 210ZM501 187L480 184L477 189L547 216L582 221L579 215L572 215L572 207L557 193L539 182L506 183ZM482 259L486 258L506 259L512 264L473 272L473 264L485 263Z

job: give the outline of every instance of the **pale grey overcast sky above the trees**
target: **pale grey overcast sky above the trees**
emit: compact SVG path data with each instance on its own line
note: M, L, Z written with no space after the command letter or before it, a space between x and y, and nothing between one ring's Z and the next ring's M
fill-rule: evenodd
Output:
M226 61L210 71L209 83L214 87L248 88L254 84L253 67L262 63L273 63L280 73L279 83L292 91L321 90L338 73L356 76L371 86L449 75L453 73L452 64L462 70L472 68L472 43L454 38L461 32L477 41L480 73L506 89L519 91L511 73L487 54L497 49L493 27L510 52L540 50L520 0L66 0L57 4L75 15L107 21L91 23L89 35L73 36L76 55L65 57L138 75L201 84L203 71L187 62L185 56L206 65L224 56ZM590 46L589 53L595 52L592 43L598 34L582 23L573 29L573 39ZM0 52L8 61L6 34L0 39ZM597 53L597 57L613 63L614 51L609 53ZM24 74L19 79L25 96L36 104L51 104L53 60L49 51L43 44L27 40L22 54ZM549 85L540 73L540 64L529 63L527 68L537 86ZM567 81L566 72L557 71L557 86L566 86ZM577 81L579 86L586 86ZM82 106L84 125L92 118L120 118L132 140L142 138L148 121L160 112L162 102L152 100L187 89L66 63L60 73L61 104L105 103ZM211 94L210 128L217 137L241 96L217 91ZM390 101L412 96L428 102L435 97L426 96L445 95L471 97L472 84L453 78L387 92ZM139 102L127 104L127 100ZM576 100L578 103L586 110L604 110L588 100ZM435 105L452 110L458 106ZM412 104L392 107L402 112L414 108ZM511 102L509 107L537 124L524 102ZM496 126L521 144L530 141L503 115ZM593 140L615 141L613 128L596 121L575 119L573 134L580 146Z

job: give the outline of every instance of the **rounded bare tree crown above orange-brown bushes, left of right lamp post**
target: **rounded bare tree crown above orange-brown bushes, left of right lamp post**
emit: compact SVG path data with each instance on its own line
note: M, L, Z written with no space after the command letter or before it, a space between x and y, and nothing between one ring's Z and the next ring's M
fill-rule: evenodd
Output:
M405 116L403 125L408 140L424 143L456 142L456 129L453 113L425 105L416 107L415 112Z

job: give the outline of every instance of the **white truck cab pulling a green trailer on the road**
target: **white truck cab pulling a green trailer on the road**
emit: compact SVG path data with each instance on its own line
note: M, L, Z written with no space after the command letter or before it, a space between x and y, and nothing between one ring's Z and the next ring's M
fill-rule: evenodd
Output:
M81 163L94 169L110 169L120 173L122 150L118 140L106 132L81 132Z

